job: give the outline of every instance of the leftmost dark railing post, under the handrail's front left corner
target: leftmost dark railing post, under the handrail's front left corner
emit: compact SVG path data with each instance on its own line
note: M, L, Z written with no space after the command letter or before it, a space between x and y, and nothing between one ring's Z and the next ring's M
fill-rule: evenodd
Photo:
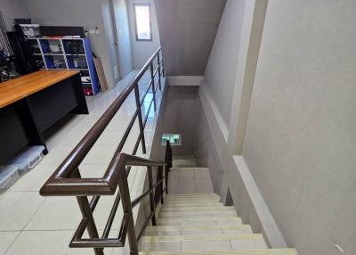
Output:
M80 178L79 169L75 169L71 172L70 177L72 178ZM93 218L93 211L90 208L90 204L88 198L86 196L77 196L77 203L79 205L80 211L82 212L83 218L88 219L88 223L86 225L86 230L88 231L90 238L99 238L98 229L95 226L95 221ZM94 248L95 255L104 255L104 249L102 248Z

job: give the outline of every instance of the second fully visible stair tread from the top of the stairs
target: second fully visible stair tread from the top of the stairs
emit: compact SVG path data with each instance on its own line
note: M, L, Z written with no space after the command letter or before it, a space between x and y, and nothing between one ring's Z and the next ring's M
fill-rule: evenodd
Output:
M251 226L150 226L145 235L253 234Z

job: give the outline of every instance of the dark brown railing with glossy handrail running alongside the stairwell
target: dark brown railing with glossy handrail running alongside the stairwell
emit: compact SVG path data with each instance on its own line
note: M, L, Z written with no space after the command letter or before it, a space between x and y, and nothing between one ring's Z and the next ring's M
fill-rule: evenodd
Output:
M146 144L144 138L144 128L149 117L149 112L152 107L156 111L156 92L158 88L161 90L161 77L165 75L163 60L160 57L160 47L152 54L149 61L143 66L142 70L135 76L133 81L125 90L111 103L108 110L103 113L100 119L93 125L85 137L77 144L68 157L56 169L52 177L43 185L40 190L44 196L76 196L79 208L82 212L82 220L77 227L77 231L73 236L69 246L77 248L93 248L95 254L104 254L105 247L123 247L125 238L128 237L130 250L132 254L138 254L137 243L140 240L145 227L152 221L156 224L155 209L159 202L163 202L164 193L168 191L168 175L169 169L172 166L172 150L169 142L166 144L165 161L148 160L135 156L140 143L142 144L142 152L146 153ZM154 70L154 61L157 59L157 68ZM150 85L140 98L139 81L144 73L150 68ZM155 78L158 75L158 80ZM109 162L109 167L103 177L100 178L82 178L80 175L79 165L85 159L86 154L92 149L93 144L101 136L104 129L109 125L109 122L117 111L120 109L127 97L134 91L136 111L130 120L128 127L125 129L124 136L117 146L112 160ZM149 92L152 92L152 100L149 109L144 119L142 118L142 104ZM122 153L127 137L130 134L135 120L138 119L140 133L134 145L132 154ZM147 168L149 189L142 193L139 197L131 201L127 177L132 166L143 166ZM152 168L158 168L157 181L153 184ZM165 181L166 180L166 181ZM164 188L164 184L166 184ZM101 195L114 195L117 190L115 202L109 213L109 218L106 226L99 237L98 230L93 218L93 211L99 202ZM150 217L145 221L139 234L135 234L133 208L142 200L150 195ZM88 196L93 196L89 202ZM117 238L109 238L109 232L113 220L117 213L119 202L122 202L124 217L122 220L120 232ZM87 230L89 238L83 238L83 234Z

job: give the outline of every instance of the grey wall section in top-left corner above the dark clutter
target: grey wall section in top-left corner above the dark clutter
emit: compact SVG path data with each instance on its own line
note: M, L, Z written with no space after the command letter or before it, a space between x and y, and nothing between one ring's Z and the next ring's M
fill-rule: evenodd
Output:
M28 18L28 10L23 0L0 0L0 10L9 31L12 30L13 19Z

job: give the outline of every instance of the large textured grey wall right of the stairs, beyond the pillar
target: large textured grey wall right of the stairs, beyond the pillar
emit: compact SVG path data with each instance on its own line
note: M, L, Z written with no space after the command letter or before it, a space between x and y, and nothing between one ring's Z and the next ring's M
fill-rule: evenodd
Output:
M301 255L356 253L356 2L269 2L243 157Z

